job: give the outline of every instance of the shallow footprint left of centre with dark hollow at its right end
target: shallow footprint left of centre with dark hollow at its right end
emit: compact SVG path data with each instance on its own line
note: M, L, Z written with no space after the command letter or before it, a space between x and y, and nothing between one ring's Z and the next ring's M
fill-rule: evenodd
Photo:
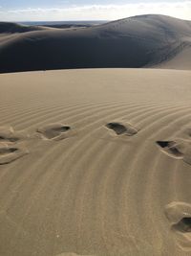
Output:
M37 128L43 139L63 140L73 135L72 128L63 124L51 124Z

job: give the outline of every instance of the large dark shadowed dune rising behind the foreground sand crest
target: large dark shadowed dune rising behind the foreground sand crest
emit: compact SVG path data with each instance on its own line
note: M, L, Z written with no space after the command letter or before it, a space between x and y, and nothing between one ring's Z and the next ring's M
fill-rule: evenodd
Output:
M0 31L1 73L98 67L191 69L191 21L164 15L70 30L1 24Z

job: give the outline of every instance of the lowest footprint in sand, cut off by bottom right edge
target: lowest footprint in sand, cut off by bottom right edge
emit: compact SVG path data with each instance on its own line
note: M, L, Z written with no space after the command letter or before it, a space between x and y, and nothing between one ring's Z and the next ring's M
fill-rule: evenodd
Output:
M191 251L191 204L173 201L165 206L165 216L181 249Z

